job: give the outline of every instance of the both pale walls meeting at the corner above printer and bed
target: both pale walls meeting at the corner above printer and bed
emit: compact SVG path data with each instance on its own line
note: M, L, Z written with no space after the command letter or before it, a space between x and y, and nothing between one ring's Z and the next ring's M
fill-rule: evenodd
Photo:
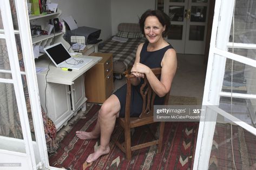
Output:
M57 3L63 17L73 16L78 26L101 29L100 39L117 32L119 23L138 23L147 9L155 9L155 0L48 0Z

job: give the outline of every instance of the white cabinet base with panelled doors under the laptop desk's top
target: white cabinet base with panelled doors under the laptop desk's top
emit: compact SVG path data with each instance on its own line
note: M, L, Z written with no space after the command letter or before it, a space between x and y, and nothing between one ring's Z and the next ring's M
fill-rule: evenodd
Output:
M37 74L41 105L57 130L60 130L80 108L86 110L84 76L78 77L72 85L47 83L45 76L45 73Z

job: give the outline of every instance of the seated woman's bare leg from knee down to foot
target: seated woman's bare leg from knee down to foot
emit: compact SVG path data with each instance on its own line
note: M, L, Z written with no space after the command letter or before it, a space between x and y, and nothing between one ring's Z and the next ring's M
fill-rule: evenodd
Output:
M119 117L120 108L119 99L114 94L111 95L101 106L95 129L91 133L89 132L90 134L87 132L83 135L83 139L91 139L91 136L94 135L95 137L96 134L101 135L100 146L89 155L86 160L88 163L97 160L101 155L109 153L109 141L115 127L116 118Z

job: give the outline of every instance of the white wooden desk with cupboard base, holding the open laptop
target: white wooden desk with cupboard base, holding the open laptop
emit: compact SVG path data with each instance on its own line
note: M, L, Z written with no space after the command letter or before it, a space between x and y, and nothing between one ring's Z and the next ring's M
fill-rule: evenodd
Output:
M41 106L45 112L48 111L47 115L54 122L57 130L66 125L81 108L82 111L86 111L84 73L102 59L102 57L93 56L79 57L91 58L93 61L80 70L64 71L50 63L48 56L44 55L36 60L36 67L47 68L37 73ZM47 74L48 65L50 69Z

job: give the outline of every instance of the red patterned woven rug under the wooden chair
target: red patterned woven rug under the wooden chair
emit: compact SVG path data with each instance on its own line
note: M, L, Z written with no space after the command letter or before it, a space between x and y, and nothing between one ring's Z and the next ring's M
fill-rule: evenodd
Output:
M97 111L100 106L94 105L86 114L86 119L80 119L60 142L57 153L50 155L50 165L64 167L65 169L192 169L198 123L194 122L168 122L165 126L162 153L156 153L156 146L139 149L132 152L132 160L127 161L124 153L110 141L110 153L100 157L91 165L86 159L93 153L100 140L81 140L75 132L93 130ZM157 127L158 124L153 124ZM113 135L123 138L121 128L115 127ZM132 140L140 142L148 140L141 128L136 128Z

